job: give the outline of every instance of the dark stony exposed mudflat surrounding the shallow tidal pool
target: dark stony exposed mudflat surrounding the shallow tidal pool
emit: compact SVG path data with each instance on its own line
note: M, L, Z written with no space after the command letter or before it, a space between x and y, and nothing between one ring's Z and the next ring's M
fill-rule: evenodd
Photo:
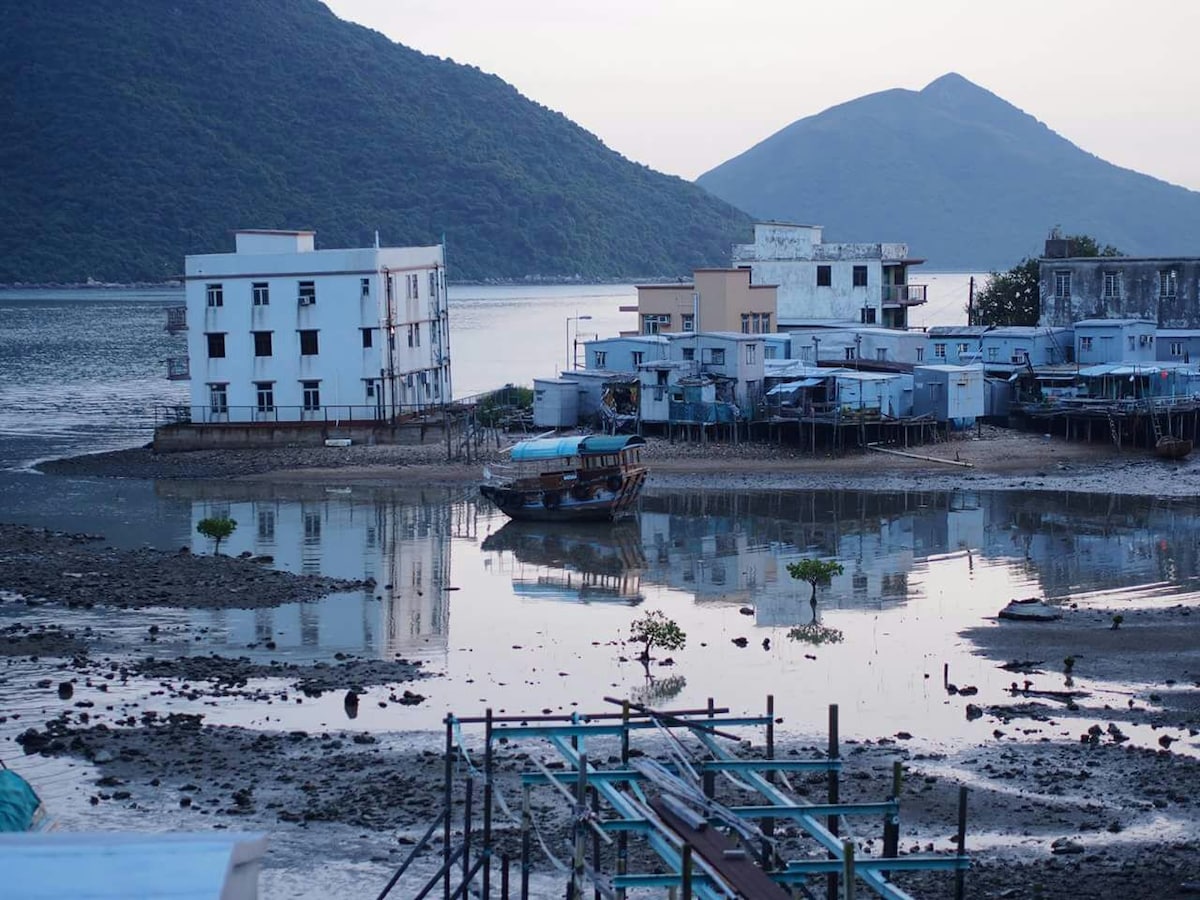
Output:
M762 445L696 445L652 442L646 457L652 488L859 490L1045 490L1190 497L1200 494L1193 461L1162 462L1148 452L1115 452L1102 445L1068 444L1037 434L985 428L961 439L910 448L913 456L863 451L829 458ZM500 458L496 451L491 458ZM934 458L916 458L934 457ZM448 464L444 446L320 448L270 454L204 452L155 456L121 451L48 463L49 473L137 478L220 478L302 482L394 479L412 484L464 484L476 464ZM40 608L136 605L131 586L158 590L157 605L205 602L204 592L170 590L184 566L198 560L179 553L113 551L78 535L37 529L0 530L0 589L4 604ZM212 602L283 602L322 589L284 572L264 588L262 562L205 558L203 576L218 584ZM89 582L86 598L64 588L64 572L120 570L125 587ZM198 578L191 569L187 577ZM71 578L79 581L79 578ZM330 587L329 589L334 589ZM198 599L199 598L199 599ZM230 600L230 598L234 598ZM274 600L272 600L274 599ZM842 799L880 799L889 793L892 764L904 764L901 852L953 853L959 788L968 793L966 878L970 898L1175 898L1200 895L1200 814L1193 786L1200 784L1200 610L1194 604L1127 613L1064 610L1051 623L974 629L964 638L996 665L1013 666L1010 697L972 707L973 698L949 690L964 715L996 720L992 740L930 752L911 748L906 734L844 745ZM66 620L66 617L65 619ZM440 734L365 734L353 724L312 732L256 732L206 725L190 715L158 715L114 702L110 709L79 707L67 689L152 678L167 692L203 700L233 694L246 702L295 702L336 691L348 712L367 685L386 685L395 703L420 703L424 672L403 660L343 658L320 667L250 665L245 660L154 658L107 646L86 630L18 624L0 635L0 656L29 688L26 664L41 666L46 715L20 722L25 752L88 761L88 805L115 810L121 827L203 829L224 826L271 834L272 858L265 896L294 894L372 895L424 832L440 805ZM1068 664L1067 660L1070 660ZM23 665L14 667L20 661ZM36 668L36 667L35 667ZM1024 670L1024 671L1022 671ZM1061 691L1031 691L1025 674L1061 672ZM1129 702L1097 707L1072 689L1073 677L1134 685ZM270 678L270 686L260 686ZM36 685L35 685L36 688ZM59 700L55 700L58 691ZM595 707L600 707L596 697ZM918 724L914 724L914 726ZM916 730L916 728L914 728ZM1127 734L1152 732L1150 748L1134 749ZM1013 739L1018 734L1022 739ZM784 755L818 756L823 737L792 737ZM649 752L668 758L666 748ZM755 755L762 746L744 745ZM533 745L499 754L497 785L520 797L520 772ZM6 752L6 756L8 754ZM550 758L548 755L545 758ZM823 799L823 775L793 779L802 799ZM562 846L570 810L542 804L544 836ZM516 852L518 832L497 824L503 852ZM860 829L863 853L877 852L877 828ZM866 834L870 834L870 839ZM811 852L796 834L784 835L787 854ZM535 854L538 857L538 854ZM440 846L419 866L428 875ZM418 876L420 877L420 876ZM947 874L900 875L917 896L950 898ZM402 882L394 895L414 893ZM494 883L494 878L493 878ZM556 896L563 878L545 864L536 895ZM316 893L312 893L316 890Z

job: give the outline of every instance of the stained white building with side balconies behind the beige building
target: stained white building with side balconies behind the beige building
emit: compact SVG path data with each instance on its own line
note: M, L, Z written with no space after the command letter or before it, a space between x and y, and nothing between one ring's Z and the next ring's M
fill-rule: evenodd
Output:
M907 244L824 244L821 226L758 222L754 244L733 247L752 284L776 286L780 330L815 322L907 328L925 286L908 283Z

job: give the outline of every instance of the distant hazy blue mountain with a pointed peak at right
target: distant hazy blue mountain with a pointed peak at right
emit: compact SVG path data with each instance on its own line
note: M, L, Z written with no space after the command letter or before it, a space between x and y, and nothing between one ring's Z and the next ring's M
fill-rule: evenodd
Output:
M1007 269L1052 226L1132 256L1200 253L1200 193L1088 154L958 74L859 97L697 184L836 241L905 241L938 269Z

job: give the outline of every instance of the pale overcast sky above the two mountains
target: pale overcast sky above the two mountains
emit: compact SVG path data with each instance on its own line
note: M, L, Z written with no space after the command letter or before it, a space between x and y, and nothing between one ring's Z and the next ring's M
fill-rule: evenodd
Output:
M1194 0L325 0L692 180L797 119L958 72L1117 166L1200 190Z

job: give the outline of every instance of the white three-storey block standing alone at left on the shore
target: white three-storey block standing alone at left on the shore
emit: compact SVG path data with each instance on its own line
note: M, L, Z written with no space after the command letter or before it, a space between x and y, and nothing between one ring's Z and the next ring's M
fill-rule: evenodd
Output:
M388 421L451 398L443 248L242 230L187 257L197 424Z

